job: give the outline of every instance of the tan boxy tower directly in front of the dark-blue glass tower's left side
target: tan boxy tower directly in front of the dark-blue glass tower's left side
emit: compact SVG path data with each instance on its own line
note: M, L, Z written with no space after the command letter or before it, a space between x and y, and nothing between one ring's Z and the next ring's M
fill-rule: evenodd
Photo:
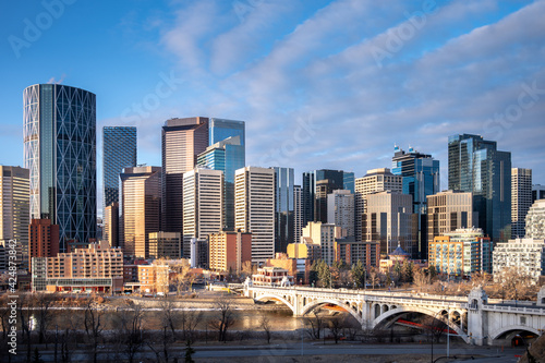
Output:
M427 196L427 240L473 227L473 196L460 191L445 191ZM427 256L422 256L424 259Z

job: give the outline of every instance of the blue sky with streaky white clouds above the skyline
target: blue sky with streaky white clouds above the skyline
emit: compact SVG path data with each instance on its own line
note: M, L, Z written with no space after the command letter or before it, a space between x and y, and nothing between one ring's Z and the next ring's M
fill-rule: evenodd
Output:
M545 184L545 0L2 1L0 164L23 166L23 89L97 95L101 128L136 125L160 166L170 118L246 122L246 164L391 167L440 160L472 133ZM99 185L100 189L100 185ZM99 193L100 195L101 193Z

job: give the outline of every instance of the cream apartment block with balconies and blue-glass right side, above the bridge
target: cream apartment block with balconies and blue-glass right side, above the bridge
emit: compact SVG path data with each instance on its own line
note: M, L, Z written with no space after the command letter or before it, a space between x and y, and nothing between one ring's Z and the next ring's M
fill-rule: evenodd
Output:
M460 228L429 243L429 266L460 278L477 271L492 274L492 249L493 243L482 229Z

